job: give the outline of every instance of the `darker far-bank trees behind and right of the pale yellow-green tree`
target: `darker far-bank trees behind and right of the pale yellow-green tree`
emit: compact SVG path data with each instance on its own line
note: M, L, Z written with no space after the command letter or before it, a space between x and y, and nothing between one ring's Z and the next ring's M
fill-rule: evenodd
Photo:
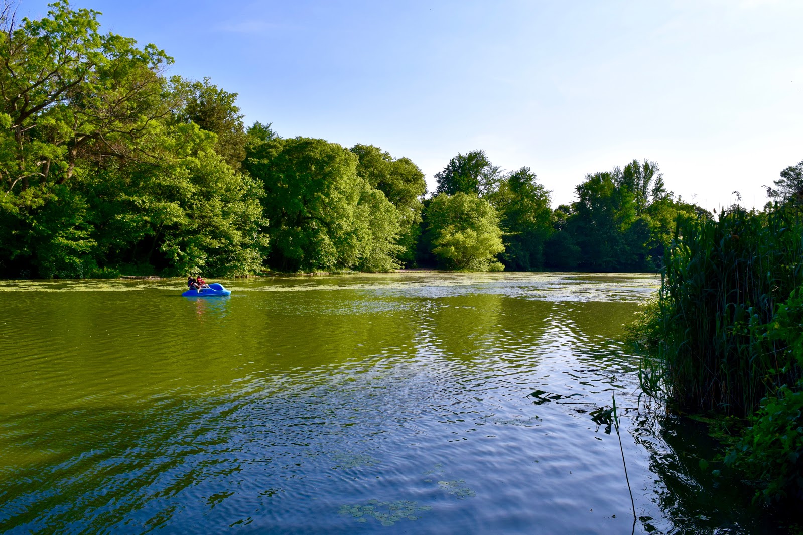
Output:
M495 219L503 234L503 249L488 241L483 251L488 262L499 254L507 269L654 271L661 265L663 246L675 231L679 213L711 218L699 206L674 198L654 161L634 160L624 168L588 174L576 188L577 200L555 210L550 209L550 192L530 168L503 173L482 150L458 154L435 178L436 199L467 194L492 209L483 217ZM476 214L479 218L485 212ZM475 238L467 235L465 239ZM448 266L445 257L426 247L430 243L425 243L422 261L430 252L438 263Z

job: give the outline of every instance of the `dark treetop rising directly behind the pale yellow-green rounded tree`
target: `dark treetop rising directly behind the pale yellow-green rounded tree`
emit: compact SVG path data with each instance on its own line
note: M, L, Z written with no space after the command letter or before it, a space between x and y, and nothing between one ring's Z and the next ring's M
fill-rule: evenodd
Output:
M484 150L472 150L453 157L446 167L435 174L436 194L475 194L479 197L493 193L499 186L501 169L491 164Z

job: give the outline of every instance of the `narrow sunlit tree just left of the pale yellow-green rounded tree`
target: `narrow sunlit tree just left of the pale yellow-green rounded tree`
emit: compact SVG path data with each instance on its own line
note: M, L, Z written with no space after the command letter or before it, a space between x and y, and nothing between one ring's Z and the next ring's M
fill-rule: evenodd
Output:
M424 174L410 158L394 159L373 145L354 145L351 151L360 158L357 175L396 206L400 217L398 243L402 247L398 260L413 264L422 221L421 198L426 193Z

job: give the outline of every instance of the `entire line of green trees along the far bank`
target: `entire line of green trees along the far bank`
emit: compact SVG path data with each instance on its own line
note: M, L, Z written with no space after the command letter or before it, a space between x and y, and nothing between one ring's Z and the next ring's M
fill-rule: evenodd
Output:
M93 10L2 12L0 276L569 269L652 271L677 214L658 165L589 174L552 210L482 150L424 174L373 145L246 128L237 94L167 76Z

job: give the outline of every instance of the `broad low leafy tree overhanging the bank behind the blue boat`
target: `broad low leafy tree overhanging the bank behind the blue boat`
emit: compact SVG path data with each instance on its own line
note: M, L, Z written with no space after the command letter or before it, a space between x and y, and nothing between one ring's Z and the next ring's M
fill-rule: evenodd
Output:
M177 125L164 141L178 146L161 165L109 165L79 174L73 192L86 199L88 237L95 244L85 263L143 275L258 271L267 247L262 190L214 152L215 139L197 125ZM72 273L44 274L91 274Z

